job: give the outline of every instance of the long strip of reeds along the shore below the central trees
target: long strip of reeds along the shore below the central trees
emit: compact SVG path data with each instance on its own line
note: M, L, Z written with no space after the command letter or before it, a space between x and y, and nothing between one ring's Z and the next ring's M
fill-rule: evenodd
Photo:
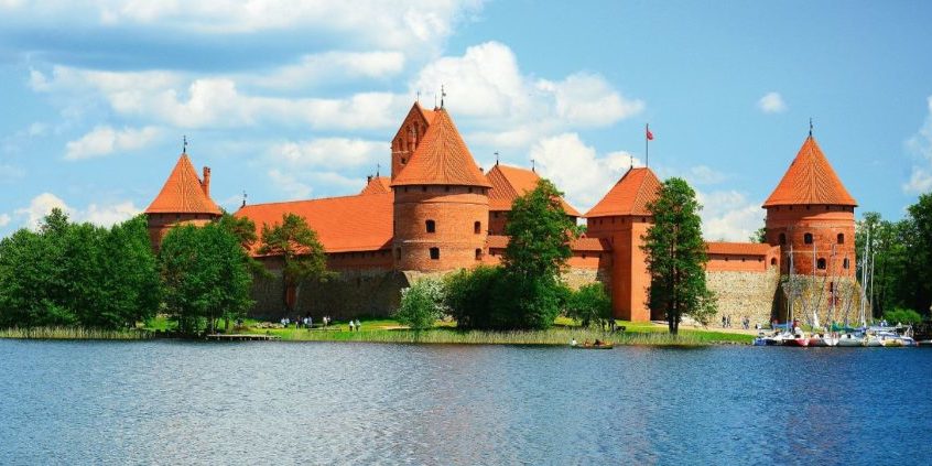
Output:
M598 329L551 328L546 330L458 332L449 328L433 328L415 332L393 330L278 330L270 332L292 342L368 342L368 343L410 343L410 344L455 344L455 345L568 345L576 339L582 344L596 339L626 346L667 346L697 347L708 345L695 335L669 335L665 333L605 333Z

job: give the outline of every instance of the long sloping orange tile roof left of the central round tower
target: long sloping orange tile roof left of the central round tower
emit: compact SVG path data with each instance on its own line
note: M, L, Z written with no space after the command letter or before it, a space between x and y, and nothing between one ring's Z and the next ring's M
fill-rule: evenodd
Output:
M370 194L253 204L234 215L254 221L260 240L263 224L281 224L282 216L290 213L307 220L326 252L377 251L391 247L393 199L392 194Z

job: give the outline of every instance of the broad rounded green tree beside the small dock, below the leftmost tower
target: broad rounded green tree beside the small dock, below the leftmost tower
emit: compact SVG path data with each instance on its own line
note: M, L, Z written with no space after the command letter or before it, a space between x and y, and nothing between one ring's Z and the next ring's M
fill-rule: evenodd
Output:
M165 304L178 329L213 332L217 319L246 313L252 277L239 239L209 224L172 228L159 253Z

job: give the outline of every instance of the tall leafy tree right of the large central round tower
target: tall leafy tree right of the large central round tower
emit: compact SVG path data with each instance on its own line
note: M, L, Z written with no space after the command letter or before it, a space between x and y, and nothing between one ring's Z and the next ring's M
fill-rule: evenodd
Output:
M563 195L548 180L514 199L505 234L503 285L496 294L514 328L548 328L563 304L560 272L573 254L570 242L578 229L563 210Z

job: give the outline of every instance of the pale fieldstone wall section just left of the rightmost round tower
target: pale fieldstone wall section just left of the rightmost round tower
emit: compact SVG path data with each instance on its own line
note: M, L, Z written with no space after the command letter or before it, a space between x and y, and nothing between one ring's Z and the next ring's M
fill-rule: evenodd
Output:
M766 272L706 272L705 280L708 289L718 297L718 314L711 322L713 326L720 325L722 316L729 316L733 327L739 327L745 316L750 318L751 327L770 323L780 283L776 267Z

